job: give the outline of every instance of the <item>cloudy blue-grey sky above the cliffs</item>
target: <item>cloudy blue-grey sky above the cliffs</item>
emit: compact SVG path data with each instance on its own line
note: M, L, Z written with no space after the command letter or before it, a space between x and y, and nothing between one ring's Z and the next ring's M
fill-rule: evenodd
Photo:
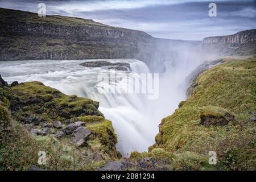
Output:
M256 0L0 0L0 7L38 13L42 2L48 15L93 19L158 38L203 40L256 28ZM217 5L216 17L208 14L211 2Z

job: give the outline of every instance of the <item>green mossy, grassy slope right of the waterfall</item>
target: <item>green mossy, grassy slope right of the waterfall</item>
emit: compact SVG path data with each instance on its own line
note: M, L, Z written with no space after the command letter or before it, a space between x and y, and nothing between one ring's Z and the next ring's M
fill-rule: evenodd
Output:
M197 77L191 97L174 114L164 118L149 152L162 150L171 160L169 169L256 169L256 57L225 59ZM226 126L200 125L200 117L235 117ZM209 151L217 152L217 165L208 163ZM135 153L136 154L136 153ZM132 155L134 156L134 154ZM166 157L167 158L167 157Z

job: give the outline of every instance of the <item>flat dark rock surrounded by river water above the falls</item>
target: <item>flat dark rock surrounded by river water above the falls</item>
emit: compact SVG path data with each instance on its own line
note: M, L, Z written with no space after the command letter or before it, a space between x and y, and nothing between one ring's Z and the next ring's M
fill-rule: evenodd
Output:
M88 68L98 68L98 67L107 67L107 66L117 66L117 67L110 67L109 69L118 69L123 71L131 71L131 67L129 63L110 63L108 61L88 61L81 63L80 65Z

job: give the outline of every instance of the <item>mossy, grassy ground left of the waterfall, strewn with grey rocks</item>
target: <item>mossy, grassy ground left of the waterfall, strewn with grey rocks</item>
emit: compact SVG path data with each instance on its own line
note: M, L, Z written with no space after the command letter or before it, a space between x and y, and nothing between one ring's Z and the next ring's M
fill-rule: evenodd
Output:
M87 98L67 96L37 81L1 87L0 168L26 170L35 165L49 170L93 170L119 158L112 123L100 113L98 105ZM63 126L67 119L71 122L81 119L92 134L81 147L71 143L70 135L60 139L51 135L34 136L23 125L30 115L40 118L42 123L58 120ZM39 151L46 151L46 165L38 165Z

